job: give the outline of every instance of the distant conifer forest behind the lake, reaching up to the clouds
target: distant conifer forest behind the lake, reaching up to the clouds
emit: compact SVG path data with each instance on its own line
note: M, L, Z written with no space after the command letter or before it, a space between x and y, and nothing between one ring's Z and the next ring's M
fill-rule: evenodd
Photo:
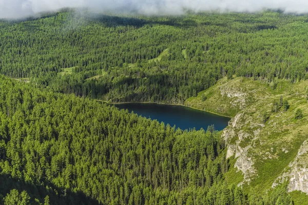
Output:
M84 97L181 104L223 76L307 78L306 22L307 15L270 11L178 17L63 11L0 22L0 72Z

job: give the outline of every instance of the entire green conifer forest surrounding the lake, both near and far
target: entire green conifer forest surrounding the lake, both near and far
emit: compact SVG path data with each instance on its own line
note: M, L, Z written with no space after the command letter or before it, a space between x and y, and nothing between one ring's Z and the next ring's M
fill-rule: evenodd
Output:
M0 204L293 204L286 185L260 195L227 182L213 126L183 131L93 99L183 104L225 76L306 79L307 22L273 11L1 20Z

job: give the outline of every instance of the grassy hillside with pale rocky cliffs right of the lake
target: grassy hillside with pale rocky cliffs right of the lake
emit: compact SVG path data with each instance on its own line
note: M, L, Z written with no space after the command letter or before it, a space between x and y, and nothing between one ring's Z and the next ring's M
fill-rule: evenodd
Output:
M235 157L232 166L242 173L239 185L264 193L286 182L288 191L299 196L296 204L305 204L308 197L294 191L308 193L307 88L307 80L268 84L252 78L223 78L185 104L234 116L222 137L228 144L226 157ZM281 97L290 108L284 111L282 106L276 112L274 105ZM297 109L302 110L302 119L295 119ZM238 180L235 176L230 174L229 180Z

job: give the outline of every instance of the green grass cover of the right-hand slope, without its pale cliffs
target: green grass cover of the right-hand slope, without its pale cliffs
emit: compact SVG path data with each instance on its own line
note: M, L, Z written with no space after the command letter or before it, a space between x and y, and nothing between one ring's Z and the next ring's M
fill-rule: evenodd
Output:
M308 138L308 103L306 100L306 89L308 81L300 81L291 84L287 80L278 80L276 89L273 84L267 84L260 80L251 78L235 78L227 80L223 78L218 84L202 91L197 97L186 100L185 104L222 115L235 116L237 113L243 113L247 121L243 122L241 132L250 134L250 137L240 141L242 148L253 146L248 153L253 156L254 167L258 176L251 181L246 189L254 189L259 193L270 190L274 180L282 174L284 168L297 155L302 142ZM229 96L227 94L229 94ZM224 94L224 95L222 95ZM206 100L202 101L201 96L205 95ZM283 112L282 109L277 114L271 112L272 102L279 99L280 96L288 100L290 109ZM303 110L304 118L294 119L297 108ZM267 112L270 116L265 126L261 126L262 113ZM258 124L260 126L258 127ZM257 139L254 139L254 131L260 129ZM233 139L233 142L238 137ZM282 149L287 149L284 153ZM235 159L231 159L231 169L226 175L228 181L239 182L241 177L233 168ZM300 201L308 201L305 194L292 194L296 204Z

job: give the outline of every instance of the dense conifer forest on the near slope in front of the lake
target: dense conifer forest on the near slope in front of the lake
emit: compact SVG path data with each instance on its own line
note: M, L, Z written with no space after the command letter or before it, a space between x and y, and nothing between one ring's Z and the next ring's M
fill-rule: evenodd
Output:
M292 204L286 187L228 185L211 126L182 131L3 76L0 121L0 203Z

